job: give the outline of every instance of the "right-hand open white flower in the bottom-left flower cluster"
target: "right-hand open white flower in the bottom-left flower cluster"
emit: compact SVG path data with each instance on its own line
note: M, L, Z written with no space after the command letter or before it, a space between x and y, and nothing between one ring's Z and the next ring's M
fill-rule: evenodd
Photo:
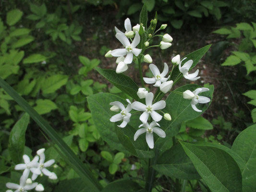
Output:
M47 168L50 167L55 160L51 159L47 162L45 162L45 154L44 154L45 149L39 149L37 151L37 155L40 156L39 164L37 168L30 168L31 172L33 173L32 175L32 180L37 179L38 175L44 174L49 177L51 180L56 180L57 175L54 172L50 172Z

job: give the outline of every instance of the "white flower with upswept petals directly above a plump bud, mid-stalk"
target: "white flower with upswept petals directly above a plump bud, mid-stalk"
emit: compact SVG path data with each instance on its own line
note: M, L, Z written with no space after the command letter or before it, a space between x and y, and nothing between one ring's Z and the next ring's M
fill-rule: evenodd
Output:
M154 77L153 78L147 78L147 77L143 77L143 80L147 83L147 84L154 84L153 86L155 87L159 87L161 85L161 83L166 82L169 78L170 75L165 78L164 76L167 75L169 68L168 65L166 63L164 63L164 70L163 72L160 74L158 67L154 64L150 64L149 65L149 69L150 71L153 73Z

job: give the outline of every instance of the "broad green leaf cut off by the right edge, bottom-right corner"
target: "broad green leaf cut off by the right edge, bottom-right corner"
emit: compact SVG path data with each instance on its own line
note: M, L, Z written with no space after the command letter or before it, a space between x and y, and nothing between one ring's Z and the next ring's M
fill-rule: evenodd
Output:
M232 150L246 162L242 171L243 192L256 191L256 124L246 128L235 139Z

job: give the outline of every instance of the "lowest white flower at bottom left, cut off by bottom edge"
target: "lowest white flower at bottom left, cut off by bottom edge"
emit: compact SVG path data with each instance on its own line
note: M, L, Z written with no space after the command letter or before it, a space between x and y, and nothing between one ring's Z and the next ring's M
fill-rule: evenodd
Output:
M5 185L9 189L15 189L14 192L26 192L28 190L34 189L37 186L37 182L32 184L26 184L26 180L27 177L25 177L25 175L22 175L20 178L20 184L8 182Z

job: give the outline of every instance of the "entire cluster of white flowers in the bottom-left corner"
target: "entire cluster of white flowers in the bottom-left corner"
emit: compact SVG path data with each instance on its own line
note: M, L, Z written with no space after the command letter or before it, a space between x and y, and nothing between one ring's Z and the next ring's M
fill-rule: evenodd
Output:
M37 155L30 161L29 156L24 155L24 163L18 164L15 166L15 170L24 170L23 174L20 178L20 184L6 183L6 187L9 189L15 189L14 192L27 192L35 188L36 191L42 192L44 191L44 187L42 184L38 184L37 182L33 182L37 179L38 175L46 175L51 180L56 180L57 175L54 172L50 172L47 168L50 167L55 161L51 159L45 162L45 149L39 149L37 151ZM39 160L39 162L38 162ZM29 177L30 171L32 172L31 179ZM12 192L12 190L7 190L6 192Z

